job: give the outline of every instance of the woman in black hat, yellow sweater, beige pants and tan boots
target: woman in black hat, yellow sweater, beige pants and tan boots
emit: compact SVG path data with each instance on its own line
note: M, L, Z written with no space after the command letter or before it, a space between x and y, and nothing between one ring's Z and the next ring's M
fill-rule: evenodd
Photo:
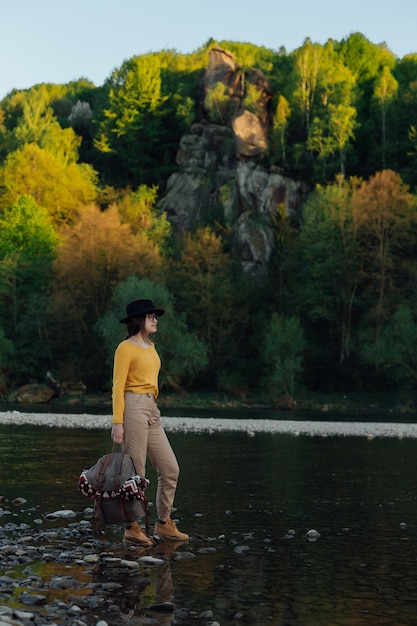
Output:
M161 361L150 335L156 333L158 317L151 300L135 300L127 305L128 336L116 349L113 368L114 443L124 442L140 476L145 476L146 457L158 473L156 492L157 521L155 535L171 541L187 541L188 535L178 530L171 519L179 467L175 454L161 424L156 404ZM123 541L150 546L153 541L134 522L126 528Z

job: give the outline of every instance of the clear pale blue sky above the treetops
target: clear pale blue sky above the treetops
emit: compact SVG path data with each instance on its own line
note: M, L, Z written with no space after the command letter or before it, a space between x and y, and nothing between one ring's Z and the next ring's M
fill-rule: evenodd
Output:
M417 0L0 0L0 100L13 88L88 78L135 55L191 53L210 38L287 52L359 32L417 53Z

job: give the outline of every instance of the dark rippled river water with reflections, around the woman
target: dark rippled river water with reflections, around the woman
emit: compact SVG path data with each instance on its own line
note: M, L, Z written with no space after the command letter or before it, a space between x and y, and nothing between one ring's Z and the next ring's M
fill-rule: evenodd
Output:
M165 559L177 608L212 610L222 626L415 623L415 439L240 433L170 439L181 466L177 516L193 538ZM13 520L62 525L44 517L61 508L81 519L86 499L77 491L78 475L110 445L102 431L0 427L0 494L28 501L11 509ZM152 498L151 470L149 477ZM305 536L312 528L320 533L315 542ZM116 556L125 554L121 536L112 529ZM104 569L117 578L117 568ZM156 600L158 572L164 570L127 578L124 571L132 592L123 583L122 591L108 591L110 599L141 614L163 601ZM102 579L103 568L93 575Z

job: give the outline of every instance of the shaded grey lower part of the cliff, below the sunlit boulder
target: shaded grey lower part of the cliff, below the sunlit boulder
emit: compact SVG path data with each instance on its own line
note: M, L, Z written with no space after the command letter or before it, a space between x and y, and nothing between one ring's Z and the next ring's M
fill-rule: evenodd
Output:
M247 117L245 114L242 119ZM266 169L253 159L236 160L231 129L210 124L199 127L198 132L199 137L181 139L180 171L169 178L158 208L180 235L209 222L220 206L221 221L232 229L233 249L242 268L253 275L266 275L275 223L283 214L298 219L307 188L279 168ZM249 147L248 134L248 152L257 150L256 141L252 137Z

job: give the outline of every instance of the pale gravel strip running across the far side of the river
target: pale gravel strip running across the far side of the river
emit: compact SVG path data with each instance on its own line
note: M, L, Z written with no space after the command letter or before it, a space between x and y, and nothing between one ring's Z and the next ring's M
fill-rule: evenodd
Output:
M352 421L309 421L268 419L223 419L199 417L162 417L167 432L214 433L245 432L309 435L328 437L417 437L417 424L397 422L352 422ZM24 413L20 411L0 412L0 425L34 425L59 428L110 429L111 415Z

